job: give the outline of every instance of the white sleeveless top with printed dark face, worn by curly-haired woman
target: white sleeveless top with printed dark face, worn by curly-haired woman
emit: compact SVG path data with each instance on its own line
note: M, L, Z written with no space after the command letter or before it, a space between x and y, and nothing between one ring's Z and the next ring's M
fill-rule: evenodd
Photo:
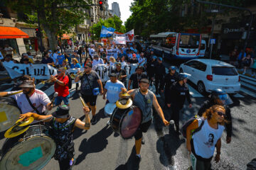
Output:
M198 119L198 127L201 123L202 120ZM213 157L215 145L224 129L223 125L218 125L218 129L213 129L208 124L208 120L204 120L202 129L192 136L196 154L206 159Z

